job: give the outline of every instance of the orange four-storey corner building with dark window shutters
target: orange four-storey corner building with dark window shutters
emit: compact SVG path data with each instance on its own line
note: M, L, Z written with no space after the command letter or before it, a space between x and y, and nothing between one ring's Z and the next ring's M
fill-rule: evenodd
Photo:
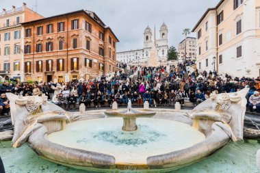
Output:
M116 70L116 38L85 10L22 23L25 81L93 79Z

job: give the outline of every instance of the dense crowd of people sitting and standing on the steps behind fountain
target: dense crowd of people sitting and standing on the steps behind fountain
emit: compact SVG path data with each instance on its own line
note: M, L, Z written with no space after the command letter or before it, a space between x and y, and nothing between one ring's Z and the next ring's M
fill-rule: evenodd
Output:
M4 82L0 86L0 109L8 114L10 105L5 92L23 96L41 96L45 94L49 100L64 109L76 109L77 103L86 107L127 105L142 106L148 101L150 107L173 107L176 102L185 105L190 101L200 104L210 95L237 92L250 88L246 98L250 111L260 112L260 77L232 78L221 76L216 72L188 71L187 64L177 66L138 67L120 64L125 70L114 72L108 80L99 77L88 81L70 81L68 83L18 83L10 85Z

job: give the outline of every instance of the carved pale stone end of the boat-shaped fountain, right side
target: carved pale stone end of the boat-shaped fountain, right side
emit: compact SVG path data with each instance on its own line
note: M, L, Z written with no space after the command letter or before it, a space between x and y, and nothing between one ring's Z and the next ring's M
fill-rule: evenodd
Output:
M189 113L194 118L194 127L200 131L207 131L216 124L234 141L243 139L245 97L248 90L245 88L239 92L211 95L210 99Z

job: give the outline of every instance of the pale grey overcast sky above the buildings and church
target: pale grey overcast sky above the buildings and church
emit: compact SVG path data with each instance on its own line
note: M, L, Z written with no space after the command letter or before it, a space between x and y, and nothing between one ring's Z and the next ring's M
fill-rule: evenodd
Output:
M120 42L117 51L142 49L143 33L147 25L156 25L157 38L163 22L168 25L169 46L178 45L184 36L182 30L192 28L207 8L220 0L37 0L37 12L44 17L75 10L95 12L105 25L112 28ZM0 8L10 10L22 3L36 10L36 0L0 0ZM195 36L195 34L191 34Z

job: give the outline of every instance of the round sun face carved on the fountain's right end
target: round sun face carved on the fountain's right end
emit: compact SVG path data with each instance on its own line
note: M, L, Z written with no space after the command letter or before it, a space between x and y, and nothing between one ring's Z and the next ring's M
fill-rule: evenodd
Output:
M218 94L212 103L212 108L216 111L226 111L231 107L231 99L228 94Z

